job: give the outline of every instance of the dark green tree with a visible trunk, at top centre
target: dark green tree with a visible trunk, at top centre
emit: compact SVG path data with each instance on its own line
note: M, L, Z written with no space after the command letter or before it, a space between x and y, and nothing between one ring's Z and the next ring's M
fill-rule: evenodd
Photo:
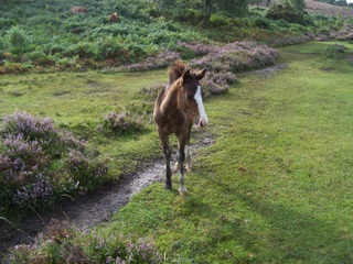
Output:
M171 10L196 10L202 12L203 25L210 26L212 14L223 14L226 16L242 16L247 12L247 0L154 0L158 6L168 12Z

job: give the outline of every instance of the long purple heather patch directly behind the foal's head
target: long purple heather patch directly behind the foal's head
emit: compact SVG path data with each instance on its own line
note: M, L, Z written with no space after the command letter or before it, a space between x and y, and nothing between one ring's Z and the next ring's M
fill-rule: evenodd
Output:
M179 52L165 52L139 64L120 67L117 70L148 70L167 67L181 57L193 57L191 68L206 68L202 85L208 95L226 92L237 81L236 74L275 65L278 51L256 42L234 42L225 45L180 43Z

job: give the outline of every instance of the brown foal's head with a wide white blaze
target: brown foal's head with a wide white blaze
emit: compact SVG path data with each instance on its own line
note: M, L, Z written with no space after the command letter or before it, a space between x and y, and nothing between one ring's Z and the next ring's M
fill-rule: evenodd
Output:
M207 125L207 116L203 107L204 92L200 80L205 76L206 69L192 73L186 69L180 77L181 92L179 92L178 103L189 119L192 119L197 128Z

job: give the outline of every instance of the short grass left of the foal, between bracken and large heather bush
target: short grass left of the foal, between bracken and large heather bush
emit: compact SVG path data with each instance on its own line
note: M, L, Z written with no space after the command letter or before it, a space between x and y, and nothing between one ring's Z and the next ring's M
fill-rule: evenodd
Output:
M117 178L124 170L133 172L139 162L161 154L151 122L154 102L141 88L167 81L165 69L143 74L4 75L0 80L0 117L24 111L52 118L56 125L73 131L111 157L109 174ZM97 127L113 111L146 117L145 130L137 135L101 134Z

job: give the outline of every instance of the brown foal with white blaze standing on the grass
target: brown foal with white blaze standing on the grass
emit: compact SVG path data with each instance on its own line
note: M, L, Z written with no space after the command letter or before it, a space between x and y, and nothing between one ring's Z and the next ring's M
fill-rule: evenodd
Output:
M170 166L171 151L169 148L169 135L175 134L179 142L176 162L179 167L179 193L184 195L185 169L191 172L190 135L193 124L196 128L207 125L207 116L203 107L204 92L200 80L204 77L206 69L191 72L182 61L176 61L169 68L169 84L159 91L154 103L153 119L157 131L162 143L163 154L167 163L165 189L172 188L172 172ZM186 155L185 155L186 151Z

